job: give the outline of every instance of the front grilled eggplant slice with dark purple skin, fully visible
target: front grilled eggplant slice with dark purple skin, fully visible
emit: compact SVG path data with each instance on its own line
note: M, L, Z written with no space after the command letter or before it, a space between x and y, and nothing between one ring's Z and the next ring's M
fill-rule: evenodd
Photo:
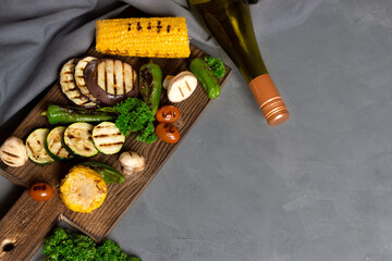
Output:
M120 60L91 61L84 73L88 90L105 104L114 105L138 94L136 71Z

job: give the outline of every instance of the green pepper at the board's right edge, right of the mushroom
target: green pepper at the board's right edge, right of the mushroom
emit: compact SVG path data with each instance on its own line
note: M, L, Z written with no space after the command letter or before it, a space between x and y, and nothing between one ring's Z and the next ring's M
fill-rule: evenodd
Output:
M208 98L216 99L220 95L220 86L215 72L201 58L195 58L189 64L191 72L201 83Z

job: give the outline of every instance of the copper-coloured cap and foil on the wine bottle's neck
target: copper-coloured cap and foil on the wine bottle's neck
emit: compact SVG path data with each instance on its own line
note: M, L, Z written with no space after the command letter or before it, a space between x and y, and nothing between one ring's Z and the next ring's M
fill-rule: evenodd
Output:
M278 126L289 120L290 113L269 74L259 75L250 80L249 88L268 125Z

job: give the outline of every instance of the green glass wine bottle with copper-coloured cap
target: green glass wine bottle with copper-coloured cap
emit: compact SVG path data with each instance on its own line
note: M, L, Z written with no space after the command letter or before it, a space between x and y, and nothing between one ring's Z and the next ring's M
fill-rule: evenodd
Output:
M237 66L270 126L290 114L262 61L247 0L188 0L205 25Z

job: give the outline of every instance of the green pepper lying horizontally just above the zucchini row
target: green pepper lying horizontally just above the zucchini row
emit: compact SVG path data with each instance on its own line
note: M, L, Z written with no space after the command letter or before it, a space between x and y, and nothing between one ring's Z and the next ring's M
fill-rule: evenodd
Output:
M75 122L103 122L114 120L114 115L103 111L88 110L74 107L49 105L48 110L41 113L48 117L50 124L68 124Z

